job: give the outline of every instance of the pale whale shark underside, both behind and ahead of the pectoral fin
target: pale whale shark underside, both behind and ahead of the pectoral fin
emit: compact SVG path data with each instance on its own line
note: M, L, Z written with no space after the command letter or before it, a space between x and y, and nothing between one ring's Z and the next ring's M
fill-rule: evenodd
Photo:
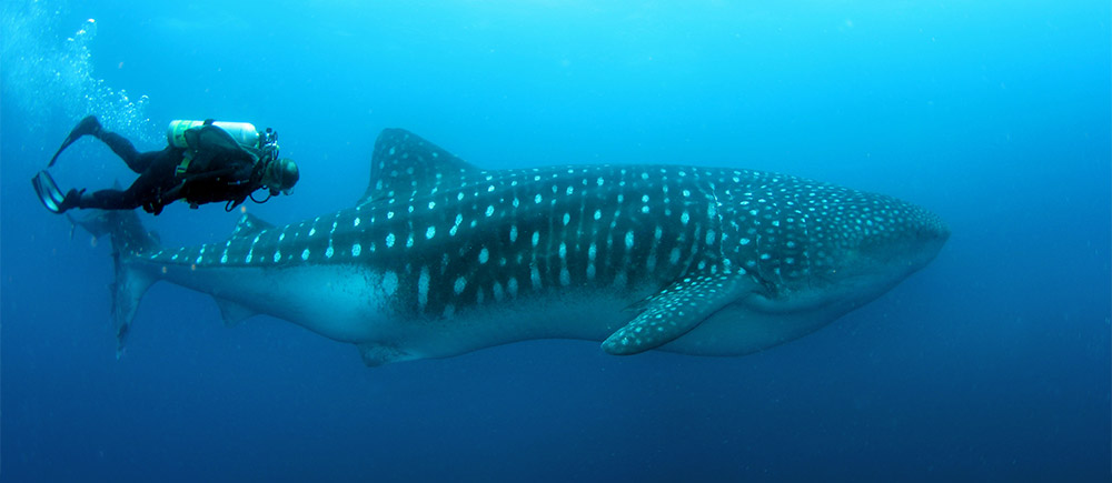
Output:
M447 358L533 340L603 341L636 315L629 306L652 289L564 288L460 306L450 316L416 314L396 303L404 283L358 265L170 268L170 281L257 313L357 344L368 364ZM400 299L405 299L401 296ZM743 355L806 335L852 306L770 310L741 300L659 349L693 355Z

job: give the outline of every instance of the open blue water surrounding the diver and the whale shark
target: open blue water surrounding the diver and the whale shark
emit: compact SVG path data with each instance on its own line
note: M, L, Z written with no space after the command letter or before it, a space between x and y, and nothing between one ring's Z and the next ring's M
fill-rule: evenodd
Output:
M758 3L774 6L758 7ZM270 1L2 7L4 481L1106 481L1106 1ZM95 19L88 22L87 19ZM28 180L97 113L278 129L292 222L355 202L374 138L489 168L698 163L927 207L922 272L745 358L535 341L363 366L169 284L116 360L110 248ZM133 174L95 141L63 188ZM169 244L236 213L171 205Z

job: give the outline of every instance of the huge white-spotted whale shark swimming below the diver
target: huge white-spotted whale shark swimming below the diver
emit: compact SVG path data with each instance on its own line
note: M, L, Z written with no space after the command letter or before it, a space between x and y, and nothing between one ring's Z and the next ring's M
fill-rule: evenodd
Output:
M122 350L160 280L211 294L228 324L268 314L358 346L368 365L533 339L743 355L885 293L950 231L895 198L786 174L696 165L487 170L400 129L375 142L347 209L168 248L133 211L109 234Z

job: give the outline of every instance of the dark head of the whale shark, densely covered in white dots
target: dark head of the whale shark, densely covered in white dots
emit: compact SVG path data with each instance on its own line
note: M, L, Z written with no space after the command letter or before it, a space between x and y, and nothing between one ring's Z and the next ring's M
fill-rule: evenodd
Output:
M765 289L765 298L801 305L865 303L925 266L950 237L917 205L882 194L767 174L731 190L724 246ZM787 296L791 295L791 296Z

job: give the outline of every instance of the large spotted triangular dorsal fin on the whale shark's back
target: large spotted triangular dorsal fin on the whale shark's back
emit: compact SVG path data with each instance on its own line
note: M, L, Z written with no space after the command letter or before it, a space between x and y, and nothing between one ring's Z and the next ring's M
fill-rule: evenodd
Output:
M458 188L483 170L403 129L385 129L375 141L370 183L359 202L415 198L441 185Z

